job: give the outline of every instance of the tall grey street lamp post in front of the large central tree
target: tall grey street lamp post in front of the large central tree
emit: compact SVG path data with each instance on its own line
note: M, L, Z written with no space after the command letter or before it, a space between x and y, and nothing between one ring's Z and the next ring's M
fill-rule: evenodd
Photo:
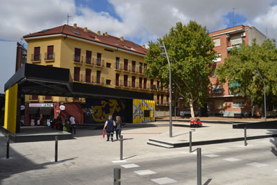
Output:
M166 52L166 46L163 42L163 46L159 46L160 49L163 49ZM161 53L161 55L166 55L168 59L168 53ZM171 90L171 67L170 61L168 59L168 67L169 67L169 136L172 137L172 90Z

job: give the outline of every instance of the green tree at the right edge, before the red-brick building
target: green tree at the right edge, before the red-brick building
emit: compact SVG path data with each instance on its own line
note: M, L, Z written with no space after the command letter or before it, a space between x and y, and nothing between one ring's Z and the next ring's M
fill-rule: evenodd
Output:
M229 82L234 94L242 94L252 100L253 105L263 105L264 87L255 72L258 69L265 81L268 100L275 100L277 94L277 50L275 40L267 39L261 45L253 39L251 46L242 44L233 49L224 64L217 67L215 74L220 82ZM274 101L272 101L274 103Z

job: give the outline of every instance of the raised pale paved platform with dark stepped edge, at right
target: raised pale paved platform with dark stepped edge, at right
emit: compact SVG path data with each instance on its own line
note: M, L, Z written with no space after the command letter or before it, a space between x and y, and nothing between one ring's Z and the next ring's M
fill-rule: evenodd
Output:
M233 125L206 123L203 127L190 128L188 124L173 122L172 137L169 131L151 137L148 144L163 148L179 148L189 146L189 134L192 132L193 146L214 143L244 141L244 130L233 129ZM247 129L247 139L261 139L277 136L277 130Z

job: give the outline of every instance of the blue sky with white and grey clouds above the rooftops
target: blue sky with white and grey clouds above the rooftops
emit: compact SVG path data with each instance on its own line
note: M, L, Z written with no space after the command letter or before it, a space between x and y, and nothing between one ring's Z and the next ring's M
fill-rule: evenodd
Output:
M277 39L277 0L1 0L0 50L8 49L5 42L24 44L24 35L67 24L67 15L71 26L76 23L145 46L177 22L190 20L209 32L233 27L233 22L255 26ZM0 53L0 69L14 68L8 53ZM1 72L1 76L12 74Z

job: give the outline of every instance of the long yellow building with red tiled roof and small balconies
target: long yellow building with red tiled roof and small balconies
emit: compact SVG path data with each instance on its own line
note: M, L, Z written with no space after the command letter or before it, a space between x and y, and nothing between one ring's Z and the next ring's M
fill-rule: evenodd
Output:
M144 69L148 66L143 61L147 53L145 46L139 46L123 37L107 33L101 35L100 31L94 33L87 28L77 27L76 24L42 30L25 35L24 39L28 42L27 63L70 69L73 82L154 94L154 100L132 100L132 120L126 118L127 122L154 121L154 116L163 116L168 110L166 89L159 88L159 80L144 75ZM116 115L118 109L125 112L123 107L131 108L129 103L122 100L115 102L112 97L111 94L109 99L96 97L86 102L85 98L26 96L25 125L31 122L36 125L38 121L39 124L46 124L46 119L52 113L39 114L39 111L32 108L44 105L42 103L48 103L49 107L53 107L53 112L57 110L61 116L73 114L77 123L102 122L107 119L107 114ZM66 105L68 112L56 108L61 104ZM160 107L159 110L163 109L163 112L155 112L155 107ZM28 111L28 108L33 110ZM87 121L86 116L91 114L92 120Z

